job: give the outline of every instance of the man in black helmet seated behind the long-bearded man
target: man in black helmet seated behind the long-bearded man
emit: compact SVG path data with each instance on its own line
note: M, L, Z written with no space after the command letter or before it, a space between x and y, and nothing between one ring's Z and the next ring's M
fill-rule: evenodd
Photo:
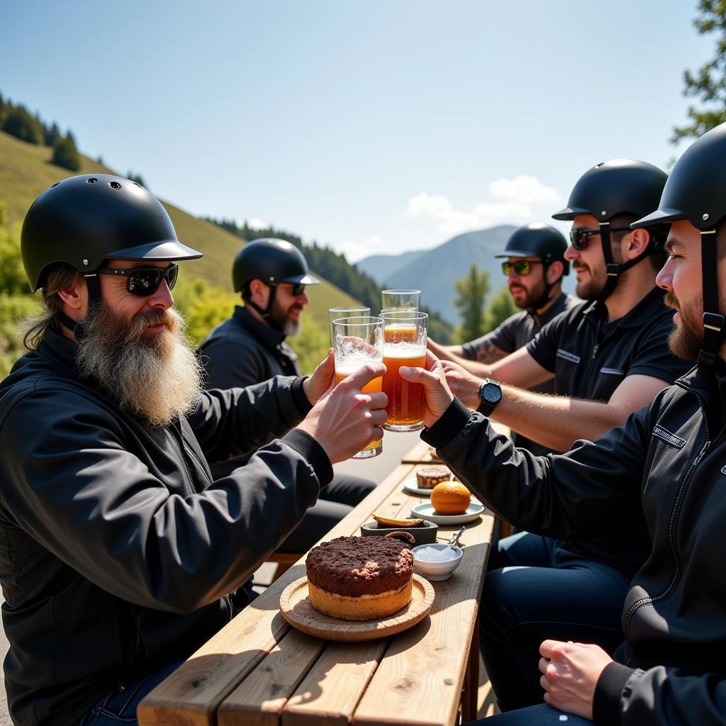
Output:
M290 242L269 237L248 242L232 264L232 286L244 306L235 306L232 317L214 328L199 349L205 387L252 386L275 375L300 375L298 356L285 338L300 333L301 314L310 302L306 285L318 283ZM213 463L212 473L226 476L246 458ZM335 473L280 551L307 552L373 489L368 479Z

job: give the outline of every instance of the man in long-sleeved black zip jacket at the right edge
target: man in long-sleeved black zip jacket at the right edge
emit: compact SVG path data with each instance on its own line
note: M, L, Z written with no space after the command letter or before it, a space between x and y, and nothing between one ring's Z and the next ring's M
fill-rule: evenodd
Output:
M676 310L670 345L698 365L594 443L533 457L452 401L433 356L429 372L402 372L427 388L423 439L494 510L566 538L644 517L652 542L630 583L625 642L613 657L597 645L544 640L548 705L481 726L726 724L726 124L686 150L657 211L633 227L653 224L671 225L658 274Z

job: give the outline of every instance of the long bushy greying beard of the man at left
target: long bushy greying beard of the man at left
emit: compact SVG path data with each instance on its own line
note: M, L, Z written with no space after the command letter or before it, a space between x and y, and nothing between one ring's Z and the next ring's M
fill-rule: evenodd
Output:
M168 330L144 340L147 325ZM121 409L164 426L192 411L202 390L200 364L174 309L149 311L131 322L103 305L86 322L76 365L95 378Z

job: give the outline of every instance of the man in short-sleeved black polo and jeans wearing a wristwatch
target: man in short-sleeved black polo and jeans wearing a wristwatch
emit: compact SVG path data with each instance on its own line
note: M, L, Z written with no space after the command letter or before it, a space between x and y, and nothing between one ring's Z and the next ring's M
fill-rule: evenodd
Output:
M572 220L565 256L585 302L492 364L488 375L496 381L444 362L460 400L560 452L621 425L688 370L668 349L673 322L656 287L665 234L628 227L656 207L665 183L663 171L637 160L611 160L582 175L554 216ZM515 388L546 378L554 380L554 396ZM623 599L650 538L642 520L558 541L502 518L528 530L497 543L482 592L481 653L499 708L508 711L539 702L544 637L556 633L611 652L619 645ZM547 597L533 598L533 590Z

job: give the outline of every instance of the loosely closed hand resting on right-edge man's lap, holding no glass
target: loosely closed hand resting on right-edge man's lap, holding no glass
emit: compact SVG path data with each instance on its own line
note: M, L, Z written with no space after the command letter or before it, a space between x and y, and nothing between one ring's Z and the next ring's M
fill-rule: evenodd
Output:
M552 708L592 721L592 701L600 674L613 659L599 645L545 640L539 646L542 658L540 685L544 701Z

